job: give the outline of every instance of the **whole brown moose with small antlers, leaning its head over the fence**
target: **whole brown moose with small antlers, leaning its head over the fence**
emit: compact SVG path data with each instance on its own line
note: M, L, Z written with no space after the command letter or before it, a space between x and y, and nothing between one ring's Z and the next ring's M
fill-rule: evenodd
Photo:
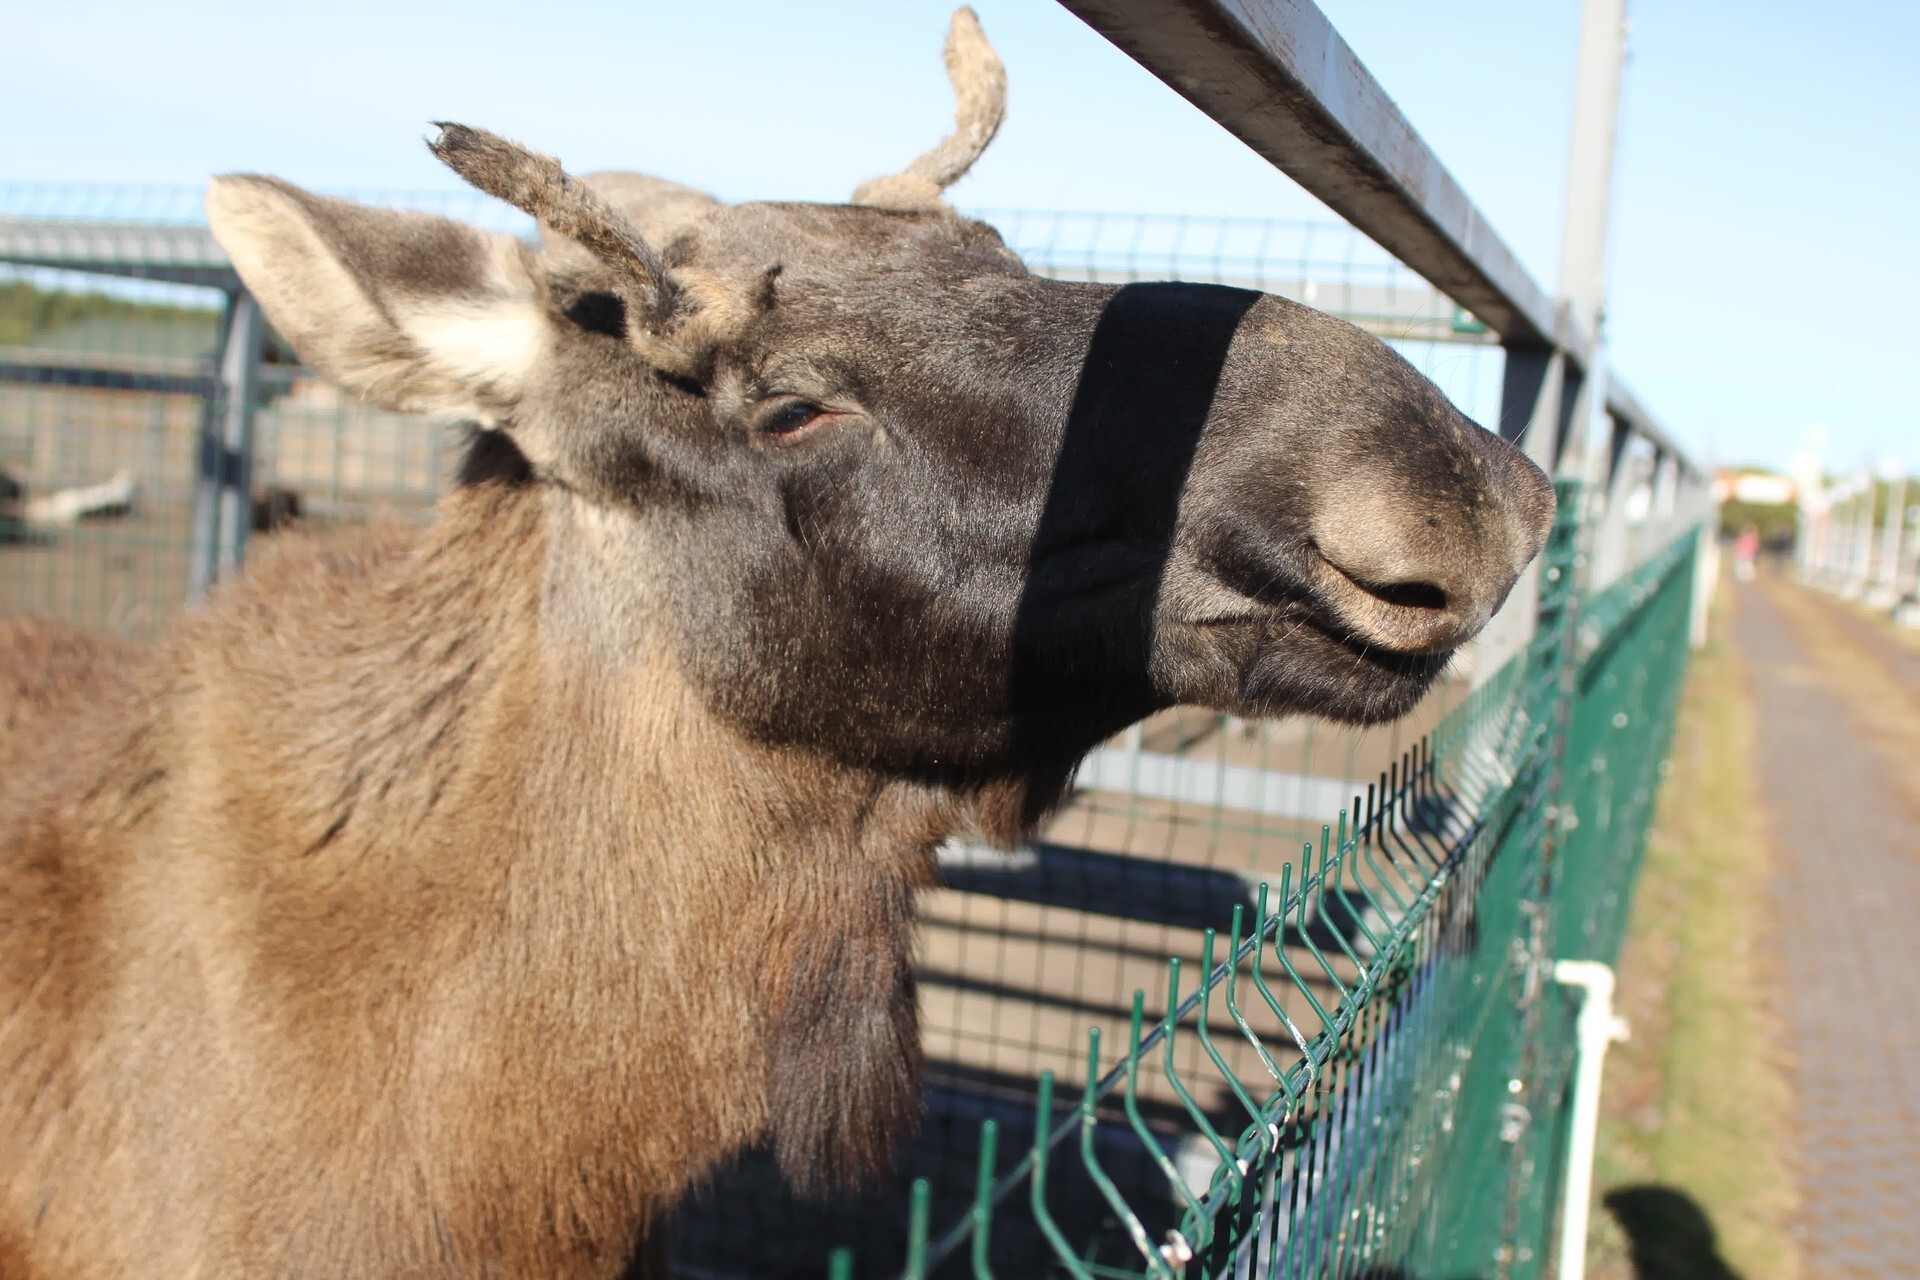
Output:
M766 1144L883 1171L914 894L1171 704L1392 718L1540 551L1542 472L1375 338L1031 274L943 201L576 178L541 242L217 178L311 367L459 416L424 530L288 532L134 647L0 626L0 1276L653 1276Z

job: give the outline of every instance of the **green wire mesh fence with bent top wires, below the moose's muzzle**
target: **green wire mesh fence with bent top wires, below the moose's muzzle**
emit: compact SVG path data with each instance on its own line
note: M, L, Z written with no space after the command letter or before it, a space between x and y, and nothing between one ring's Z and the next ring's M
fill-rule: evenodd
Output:
M958 1274L948 1263L960 1259L973 1276L1546 1274L1574 1044L1574 1006L1548 969L1611 961L1620 946L1686 672L1695 555L1688 533L1584 595L1584 524L1582 493L1563 486L1528 652L1332 816L1277 887L1261 887L1250 923L1235 908L1221 958L1206 931L1198 988L1169 958L1160 1021L1135 992L1116 1061L1089 1036L1064 1119L1043 1077L1029 1153L996 1180L983 1134L972 1209L933 1242L925 1274ZM1315 925L1352 900L1342 890L1365 919L1329 944ZM1246 992L1284 1040L1246 1017ZM1215 1009L1256 1069L1219 1052ZM1188 1038L1208 1080L1181 1065ZM1204 1178L1179 1169L1165 1126L1142 1117L1156 1055L1213 1155ZM1202 1105L1202 1084L1231 1107ZM1158 1197L1108 1173L1104 1126L1148 1150ZM1064 1159L1073 1148L1077 1167ZM1048 1209L1073 1178L1112 1209L1102 1230L1073 1236ZM993 1232L1021 1213L1046 1253L996 1255ZM1150 1222L1165 1224L1160 1236Z

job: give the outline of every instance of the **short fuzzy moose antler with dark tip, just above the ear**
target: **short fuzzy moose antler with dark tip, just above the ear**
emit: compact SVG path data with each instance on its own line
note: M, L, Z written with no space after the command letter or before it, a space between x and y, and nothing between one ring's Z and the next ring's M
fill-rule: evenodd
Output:
M509 142L484 129L434 121L440 136L426 146L453 173L488 196L534 215L595 257L624 267L653 288L657 317L672 309L670 282L660 255L639 228L591 186L568 175L561 161Z

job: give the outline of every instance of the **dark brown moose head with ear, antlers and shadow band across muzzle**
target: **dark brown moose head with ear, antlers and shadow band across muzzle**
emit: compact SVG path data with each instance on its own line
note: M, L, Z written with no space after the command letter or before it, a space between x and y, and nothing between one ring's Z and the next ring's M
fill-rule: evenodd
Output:
M545 248L257 177L207 207L311 365L549 491L547 626L668 652L756 739L1021 779L1031 819L1160 706L1411 708L1540 551L1546 476L1308 307L1029 273L941 201L1004 109L966 10L947 63L956 132L847 205L444 125Z

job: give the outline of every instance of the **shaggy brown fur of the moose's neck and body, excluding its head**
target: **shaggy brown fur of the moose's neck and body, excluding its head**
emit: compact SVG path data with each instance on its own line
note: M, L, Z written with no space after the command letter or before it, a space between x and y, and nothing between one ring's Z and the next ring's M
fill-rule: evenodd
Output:
M559 501L286 535L154 654L0 628L8 1280L603 1276L770 1100L885 1159L950 804L543 643Z

